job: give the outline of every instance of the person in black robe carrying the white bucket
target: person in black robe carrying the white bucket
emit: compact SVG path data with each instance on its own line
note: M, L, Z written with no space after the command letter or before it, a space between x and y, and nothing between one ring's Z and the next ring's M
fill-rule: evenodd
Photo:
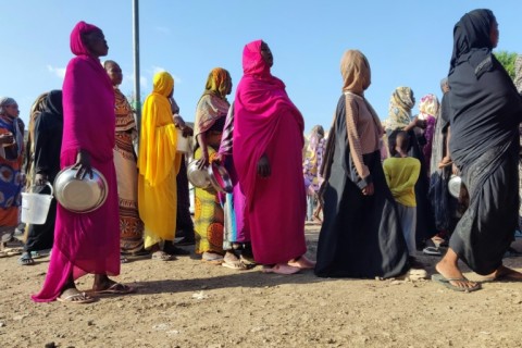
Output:
M51 90L39 105L37 99L35 107L39 111L36 111L38 115L34 116L34 129L30 129L34 144L28 154L33 158L33 170L26 170L34 173L30 177L34 186L33 192L50 195L51 189L47 184L52 185L58 172L60 172L63 134L62 91ZM38 254L38 251L52 248L55 219L57 200L53 198L46 222L41 225L29 224L27 226L27 238L24 244L24 253L18 259L20 264L34 264L33 253Z

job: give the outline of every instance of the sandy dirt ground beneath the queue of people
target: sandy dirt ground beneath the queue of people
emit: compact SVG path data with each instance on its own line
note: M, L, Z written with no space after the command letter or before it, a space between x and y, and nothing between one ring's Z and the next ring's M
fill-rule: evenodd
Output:
M307 226L314 258L318 226ZM515 247L522 250L522 240ZM194 247L186 247L190 250ZM90 304L34 303L48 258L0 259L0 347L521 347L522 285L472 294L431 281L326 279L237 272L190 257L135 260L137 294ZM428 274L438 257L421 257ZM522 258L505 259L522 269ZM474 273L467 273L476 279ZM92 277L78 281L88 289ZM47 345L47 346L46 346Z

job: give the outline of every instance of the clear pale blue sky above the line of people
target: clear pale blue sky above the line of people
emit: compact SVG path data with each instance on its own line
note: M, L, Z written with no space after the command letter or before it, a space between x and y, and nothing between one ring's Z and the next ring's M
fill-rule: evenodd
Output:
M497 16L497 50L522 53L520 0L141 0L141 95L150 92L154 72L166 70L182 115L194 121L210 70L228 70L236 86L243 47L263 39L274 54L272 73L285 82L306 130L327 128L340 95L340 57L359 49L372 67L366 98L384 120L398 86L411 87L418 101L428 92L440 97L453 25L478 8ZM132 0L2 0L0 96L15 98L27 121L39 94L61 88L72 58L69 35L82 20L102 28L107 59L124 72L121 89L133 94L132 10Z

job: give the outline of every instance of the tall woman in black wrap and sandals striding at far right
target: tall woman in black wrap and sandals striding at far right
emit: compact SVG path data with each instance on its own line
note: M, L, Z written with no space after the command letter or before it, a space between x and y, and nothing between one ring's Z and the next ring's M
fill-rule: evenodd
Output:
M498 24L490 10L464 14L453 29L450 62L450 152L461 172L469 207L433 279L461 291L480 288L458 268L464 261L488 279L522 281L502 265L518 224L518 125L522 99L492 50Z

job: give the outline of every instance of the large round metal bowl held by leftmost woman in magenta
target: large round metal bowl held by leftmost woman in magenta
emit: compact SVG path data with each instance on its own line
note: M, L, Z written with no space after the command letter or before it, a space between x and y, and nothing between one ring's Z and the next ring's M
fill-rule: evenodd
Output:
M65 167L54 179L54 197L60 204L75 213L88 213L100 208L107 199L108 185L105 177L92 169L92 178L86 175L76 178L77 170Z

